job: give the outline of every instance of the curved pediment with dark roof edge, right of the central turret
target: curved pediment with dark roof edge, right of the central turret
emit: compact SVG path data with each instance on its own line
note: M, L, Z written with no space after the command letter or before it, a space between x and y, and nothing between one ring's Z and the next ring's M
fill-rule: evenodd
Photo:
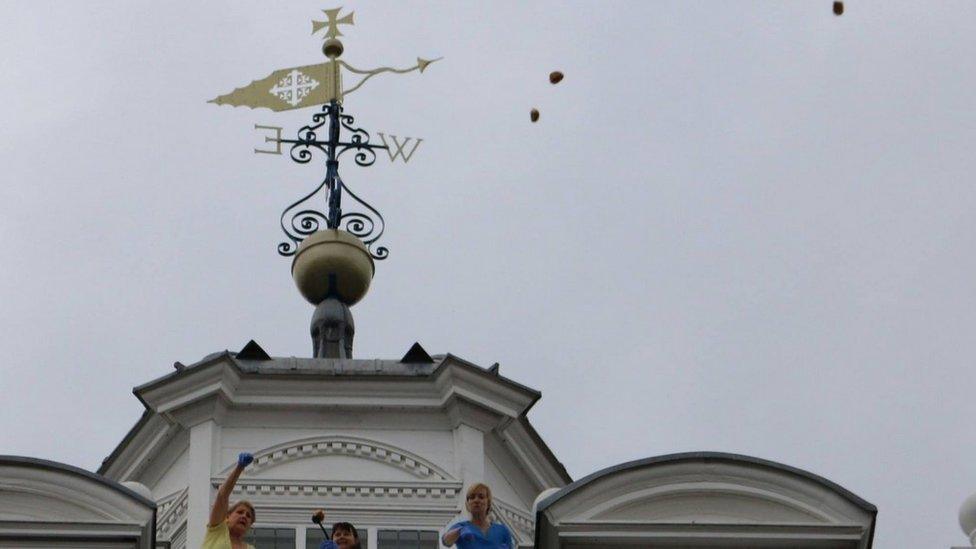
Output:
M569 535L595 545L626 539L654 546L680 532L696 543L768 535L787 545L815 533L867 547L876 514L856 495L793 467L716 452L673 454L604 469L541 501L538 545L558 547Z

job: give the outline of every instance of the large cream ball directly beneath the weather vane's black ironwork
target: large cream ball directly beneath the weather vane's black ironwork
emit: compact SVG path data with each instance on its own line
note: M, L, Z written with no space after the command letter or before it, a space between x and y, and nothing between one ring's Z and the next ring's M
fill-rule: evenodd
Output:
M298 291L313 305L330 296L346 305L358 303L369 290L375 270L362 240L338 229L309 235L291 263Z

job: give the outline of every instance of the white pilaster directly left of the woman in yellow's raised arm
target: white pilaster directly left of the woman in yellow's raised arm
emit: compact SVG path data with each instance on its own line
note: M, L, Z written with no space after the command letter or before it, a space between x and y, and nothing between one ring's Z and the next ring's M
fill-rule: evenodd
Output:
M207 531L213 489L213 463L217 456L219 427L212 419L190 428L189 466L187 471L186 546L200 547Z

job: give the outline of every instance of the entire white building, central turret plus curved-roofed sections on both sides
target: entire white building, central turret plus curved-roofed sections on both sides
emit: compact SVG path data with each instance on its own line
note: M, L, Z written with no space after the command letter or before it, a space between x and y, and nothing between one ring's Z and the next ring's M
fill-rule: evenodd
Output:
M216 488L257 511L258 549L315 548L347 521L365 548L440 547L467 486L539 549L871 549L877 509L754 457L646 458L575 482L526 419L530 388L415 346L399 361L271 358L253 342L135 389L146 411L98 474L0 456L0 547L196 549ZM976 539L976 496L960 523Z

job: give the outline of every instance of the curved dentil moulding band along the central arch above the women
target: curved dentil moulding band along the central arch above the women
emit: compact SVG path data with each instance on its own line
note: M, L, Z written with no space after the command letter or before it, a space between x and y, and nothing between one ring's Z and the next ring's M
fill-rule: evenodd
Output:
M450 473L417 454L390 444L350 436L313 437L272 446L254 454L254 463L249 472L260 473L290 461L329 455L351 456L385 463L421 480L435 482L454 480ZM230 470L230 467L224 469L222 475L226 477Z

